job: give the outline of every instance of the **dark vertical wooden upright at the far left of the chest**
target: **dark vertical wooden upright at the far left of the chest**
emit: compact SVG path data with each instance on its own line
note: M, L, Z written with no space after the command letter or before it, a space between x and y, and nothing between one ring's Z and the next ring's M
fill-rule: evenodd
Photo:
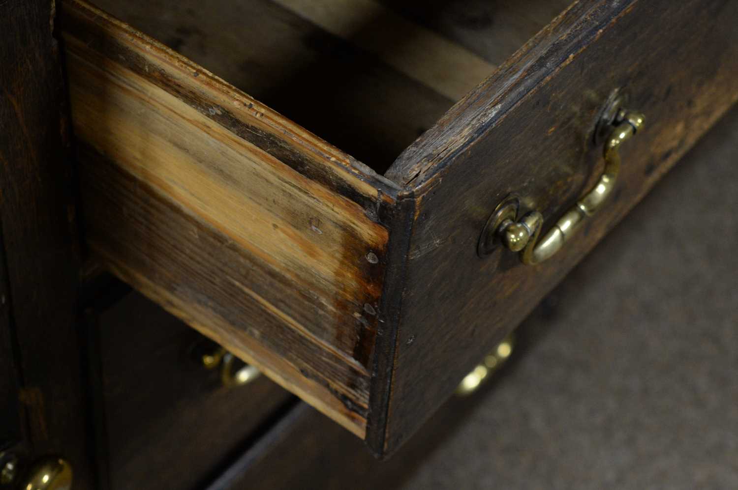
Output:
M53 1L0 1L0 256L7 272L0 337L9 326L15 332L19 389L8 402L25 416L13 432L31 458L63 455L75 486L91 488L75 318L74 179L54 29Z

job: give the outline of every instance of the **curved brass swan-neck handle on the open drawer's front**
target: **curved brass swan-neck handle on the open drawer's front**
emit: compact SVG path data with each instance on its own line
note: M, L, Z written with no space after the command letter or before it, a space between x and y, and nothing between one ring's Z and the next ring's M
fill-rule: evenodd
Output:
M604 171L596 185L581 197L543 237L543 215L529 211L517 219L517 197L500 203L487 220L477 244L480 256L489 255L500 243L510 251L520 252L523 264L535 265L554 256L573 237L584 222L601 209L613 192L620 172L620 146L643 127L644 115L618 108L611 121L612 133L604 143ZM540 238L539 238L540 237Z

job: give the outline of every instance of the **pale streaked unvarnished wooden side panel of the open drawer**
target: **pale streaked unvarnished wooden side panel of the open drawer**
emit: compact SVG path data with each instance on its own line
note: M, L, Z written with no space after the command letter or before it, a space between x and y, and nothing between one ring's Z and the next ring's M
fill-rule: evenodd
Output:
M63 39L92 251L363 435L395 186L94 7Z

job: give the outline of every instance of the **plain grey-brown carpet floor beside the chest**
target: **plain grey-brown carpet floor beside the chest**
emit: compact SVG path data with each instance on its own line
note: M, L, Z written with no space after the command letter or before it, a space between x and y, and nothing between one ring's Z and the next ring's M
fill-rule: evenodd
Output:
M734 110L520 327L400 488L738 489L737 216Z

